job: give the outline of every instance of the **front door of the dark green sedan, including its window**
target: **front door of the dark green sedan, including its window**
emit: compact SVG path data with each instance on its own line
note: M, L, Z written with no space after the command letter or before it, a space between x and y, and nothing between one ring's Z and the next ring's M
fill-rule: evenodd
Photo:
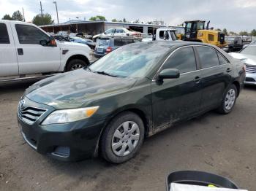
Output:
M165 61L162 69L178 69L178 79L152 81L153 124L156 131L197 114L200 108L200 70L193 47L181 47ZM162 71L161 69L161 71Z

